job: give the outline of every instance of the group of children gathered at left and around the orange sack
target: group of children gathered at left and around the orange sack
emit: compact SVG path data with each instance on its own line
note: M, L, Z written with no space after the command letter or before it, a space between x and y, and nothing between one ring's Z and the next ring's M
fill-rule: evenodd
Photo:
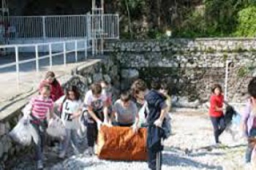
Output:
M94 154L101 125L129 126L134 133L144 126L148 128L148 167L156 169L157 152L162 150L162 138L167 136L161 127L170 124L165 123L165 120L170 120L167 116L170 96L167 96L167 85L159 81L153 81L151 88L148 90L143 80L136 80L129 90L121 92L120 98L113 102L110 85L101 81L91 85L82 101L76 86L65 89L64 94L55 74L48 72L45 80L40 82L39 95L31 98L29 102L30 122L39 134L39 142L35 143L37 169L43 169L45 130L49 120L57 116L66 128L66 136L59 141L59 158L65 157L69 144L76 154L80 153L77 134L81 122L87 127L89 147L86 154L89 155Z

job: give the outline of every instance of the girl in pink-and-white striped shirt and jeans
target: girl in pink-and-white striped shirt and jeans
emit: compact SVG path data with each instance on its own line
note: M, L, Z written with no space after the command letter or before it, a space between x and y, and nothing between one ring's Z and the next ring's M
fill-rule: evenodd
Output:
M39 90L40 95L31 99L31 124L39 134L39 142L35 144L37 169L43 169L43 146L47 118L53 117L53 100L50 98L50 85L44 84ZM50 112L50 117L47 117Z

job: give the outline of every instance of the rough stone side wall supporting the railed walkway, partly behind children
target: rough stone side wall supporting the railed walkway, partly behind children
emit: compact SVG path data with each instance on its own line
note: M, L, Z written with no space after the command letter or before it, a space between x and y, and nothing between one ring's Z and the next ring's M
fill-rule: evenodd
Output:
M89 64L79 66L73 69L70 74L66 74L58 79L62 82L64 88L67 88L69 85L77 85L80 93L83 94L82 99L89 86L99 80L111 82L113 84L114 98L118 95L118 67L114 66L114 63L110 60L90 61ZM26 102L29 101L29 98L26 98ZM20 109L0 120L0 169L4 169L4 162L12 158L13 155L18 155L21 151L22 154L31 151L30 147L21 147L15 144L8 136L9 132L18 123L18 120L20 120L20 117L22 117L20 110L23 106L20 106Z

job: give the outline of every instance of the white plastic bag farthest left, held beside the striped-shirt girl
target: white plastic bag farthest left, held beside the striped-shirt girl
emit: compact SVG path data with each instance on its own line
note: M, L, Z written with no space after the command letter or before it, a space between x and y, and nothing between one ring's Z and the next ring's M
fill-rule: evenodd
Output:
M12 131L10 131L9 135L15 142L23 146L29 146L32 139L38 141L37 132L29 123L29 117L22 117Z

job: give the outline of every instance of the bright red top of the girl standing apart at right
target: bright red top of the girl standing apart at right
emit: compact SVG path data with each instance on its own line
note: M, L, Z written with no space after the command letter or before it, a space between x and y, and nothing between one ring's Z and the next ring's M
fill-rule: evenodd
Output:
M216 107L222 108L224 103L224 96L221 94L219 96L217 95L211 95L210 99L210 109L209 114L211 117L222 117L223 112L222 111L216 111Z

